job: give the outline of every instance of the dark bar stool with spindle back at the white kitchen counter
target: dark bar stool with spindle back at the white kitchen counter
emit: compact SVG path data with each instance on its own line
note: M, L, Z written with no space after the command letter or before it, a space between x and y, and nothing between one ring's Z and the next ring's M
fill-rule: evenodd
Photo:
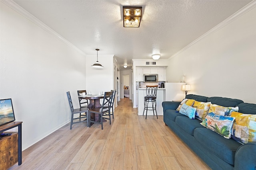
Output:
M154 110L156 111L156 92L157 92L157 88L158 88L158 85L156 85L156 86L146 86L147 96L144 97L144 111L146 110L146 119L147 119L148 110L152 110L153 114L155 115ZM149 102L152 103L152 107L148 107ZM144 111L143 111L143 115L144 115ZM158 119L157 113L156 113L156 118Z

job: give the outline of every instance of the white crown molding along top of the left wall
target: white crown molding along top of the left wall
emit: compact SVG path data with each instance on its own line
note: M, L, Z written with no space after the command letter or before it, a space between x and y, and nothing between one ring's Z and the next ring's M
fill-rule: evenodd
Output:
M38 18L36 18L32 14L30 14L28 11L26 11L24 8L22 8L21 6L16 4L16 2L14 2L12 0L1 0L1 2L6 4L7 6L9 6L10 8L15 10L19 14L21 14L22 16L24 16L28 20L32 21L33 23L35 23L36 25L38 25L39 27L44 29L46 32L50 33L50 35L56 37L57 39L60 39L61 41L63 41L67 45L69 45L70 47L73 47L78 52L80 52L82 55L86 55L82 50L78 49L78 47L76 47L74 44L70 43L68 40L66 40L64 37L62 37L60 34L56 33L53 29L48 27L45 23L43 23L42 21L38 20Z

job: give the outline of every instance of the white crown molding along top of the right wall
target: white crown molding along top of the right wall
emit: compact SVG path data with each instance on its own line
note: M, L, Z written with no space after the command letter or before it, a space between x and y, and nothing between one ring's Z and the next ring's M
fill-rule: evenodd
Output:
M230 17L228 17L226 20L222 21L221 23L219 23L218 25L216 25L215 27L213 27L212 29L210 29L209 31L207 31L206 33L204 33L202 36L200 36L198 39L192 41L192 43L188 44L186 47L184 47L183 49L181 49L180 51L178 51L177 53L175 53L174 55L172 55L169 60L172 57L175 57L176 55L178 55L179 53L181 53L182 51L186 50L187 48L189 48L190 46L194 45L195 43L197 43L198 41L200 41L201 39L204 39L205 37L213 34L214 32L218 31L219 29L223 28L224 26L228 25L229 23L231 23L232 21L236 20L237 18L239 18L240 16L244 15L246 12L250 11L251 9L253 9L254 7L256 7L256 0L253 0L252 2L250 2L249 4L247 4L246 6L244 6L243 8L241 8L240 10L238 10L237 12L235 12L234 14L232 14Z

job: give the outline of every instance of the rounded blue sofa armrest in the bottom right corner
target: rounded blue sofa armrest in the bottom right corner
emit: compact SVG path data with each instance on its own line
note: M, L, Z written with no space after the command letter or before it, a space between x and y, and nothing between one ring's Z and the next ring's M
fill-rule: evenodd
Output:
M234 170L256 170L256 142L240 146L235 154Z

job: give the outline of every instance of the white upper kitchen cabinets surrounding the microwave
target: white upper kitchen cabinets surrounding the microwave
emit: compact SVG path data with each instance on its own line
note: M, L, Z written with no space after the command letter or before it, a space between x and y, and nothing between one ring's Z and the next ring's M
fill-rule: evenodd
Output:
M143 74L158 74L158 81L166 81L165 67L137 67L136 81L143 82Z

